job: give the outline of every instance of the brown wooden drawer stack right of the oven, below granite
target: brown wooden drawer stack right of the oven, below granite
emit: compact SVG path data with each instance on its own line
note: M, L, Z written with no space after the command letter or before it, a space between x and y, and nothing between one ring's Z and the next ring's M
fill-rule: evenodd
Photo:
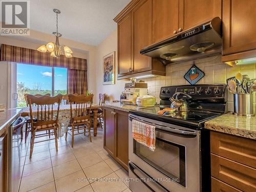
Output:
M212 191L256 191L256 140L211 131Z

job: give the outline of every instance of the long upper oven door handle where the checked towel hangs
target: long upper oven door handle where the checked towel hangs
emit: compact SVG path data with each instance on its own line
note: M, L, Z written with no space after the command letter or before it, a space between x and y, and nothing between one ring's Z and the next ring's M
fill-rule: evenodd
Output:
M174 128L171 128L171 127L161 126L161 125L158 125L158 124L155 124L155 123L150 123L150 122L147 122L147 121L144 121L142 119L135 118L135 117L129 117L130 121L132 121L133 119L136 120L136 121L145 123L145 124L155 126L157 131L164 131L166 133L173 133L173 134L184 135L184 136L189 136L189 137L196 137L197 136L197 133L194 132L194 131L174 129Z

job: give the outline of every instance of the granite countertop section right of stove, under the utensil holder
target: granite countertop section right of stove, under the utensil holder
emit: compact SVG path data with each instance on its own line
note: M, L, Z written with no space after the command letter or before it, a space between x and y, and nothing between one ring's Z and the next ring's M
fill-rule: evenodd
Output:
M240 117L227 113L206 121L204 127L208 130L256 139L256 116Z

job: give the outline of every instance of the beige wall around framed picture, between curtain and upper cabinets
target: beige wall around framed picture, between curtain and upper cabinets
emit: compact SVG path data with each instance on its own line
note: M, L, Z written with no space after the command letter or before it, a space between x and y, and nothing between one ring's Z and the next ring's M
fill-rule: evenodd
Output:
M103 67L102 57L115 51L115 84L102 85ZM96 72L95 72L96 87L93 93L98 97L99 93L106 93L107 101L120 100L120 94L124 90L124 83L127 81L116 80L117 78L117 30L113 31L101 44L98 45L96 51ZM91 91L91 90L89 90ZM98 98L96 98L98 102Z

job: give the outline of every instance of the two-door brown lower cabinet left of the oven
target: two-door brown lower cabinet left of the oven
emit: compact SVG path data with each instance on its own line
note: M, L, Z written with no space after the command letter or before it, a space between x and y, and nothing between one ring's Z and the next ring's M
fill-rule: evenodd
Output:
M128 170L128 112L104 107L104 149Z

